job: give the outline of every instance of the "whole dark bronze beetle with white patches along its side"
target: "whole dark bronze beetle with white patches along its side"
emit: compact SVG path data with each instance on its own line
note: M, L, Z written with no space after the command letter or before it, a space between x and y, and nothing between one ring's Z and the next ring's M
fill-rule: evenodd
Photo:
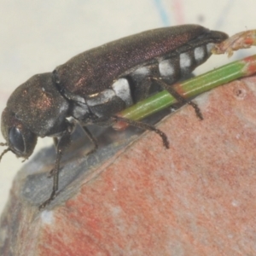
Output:
M9 96L3 110L1 130L6 143L0 145L8 148L0 160L8 151L27 159L38 137L53 137L53 189L39 207L44 208L58 190L61 155L71 143L75 123L84 128L94 144L93 152L96 138L86 125L112 125L120 119L116 113L146 98L155 86L186 102L171 85L207 61L213 45L226 38L224 32L198 25L164 27L84 51L52 73L32 76ZM202 119L199 108L190 103ZM166 135L153 125L125 121L157 132L168 148Z

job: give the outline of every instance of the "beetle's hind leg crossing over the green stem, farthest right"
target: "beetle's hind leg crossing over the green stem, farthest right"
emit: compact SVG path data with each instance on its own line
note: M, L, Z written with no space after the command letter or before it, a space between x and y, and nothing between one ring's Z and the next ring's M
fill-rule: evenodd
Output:
M183 98L183 96L178 94L177 91L174 90L172 86L170 86L169 84L166 84L162 79L159 79L159 78L151 78L151 79L153 79L158 84L160 84L160 86L163 90L167 90L177 100L177 102L180 102L182 104L188 103L189 105L191 105L195 109L196 116L201 120L203 119L201 110L195 102L187 101L185 98Z

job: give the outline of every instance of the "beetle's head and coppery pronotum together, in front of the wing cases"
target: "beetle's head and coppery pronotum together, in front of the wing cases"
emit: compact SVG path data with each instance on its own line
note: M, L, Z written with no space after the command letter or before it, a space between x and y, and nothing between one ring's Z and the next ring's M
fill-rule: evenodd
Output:
M16 156L28 158L38 137L60 134L67 129L68 102L55 88L52 73L32 76L9 96L3 110L1 130L8 148ZM3 156L0 155L1 157Z

